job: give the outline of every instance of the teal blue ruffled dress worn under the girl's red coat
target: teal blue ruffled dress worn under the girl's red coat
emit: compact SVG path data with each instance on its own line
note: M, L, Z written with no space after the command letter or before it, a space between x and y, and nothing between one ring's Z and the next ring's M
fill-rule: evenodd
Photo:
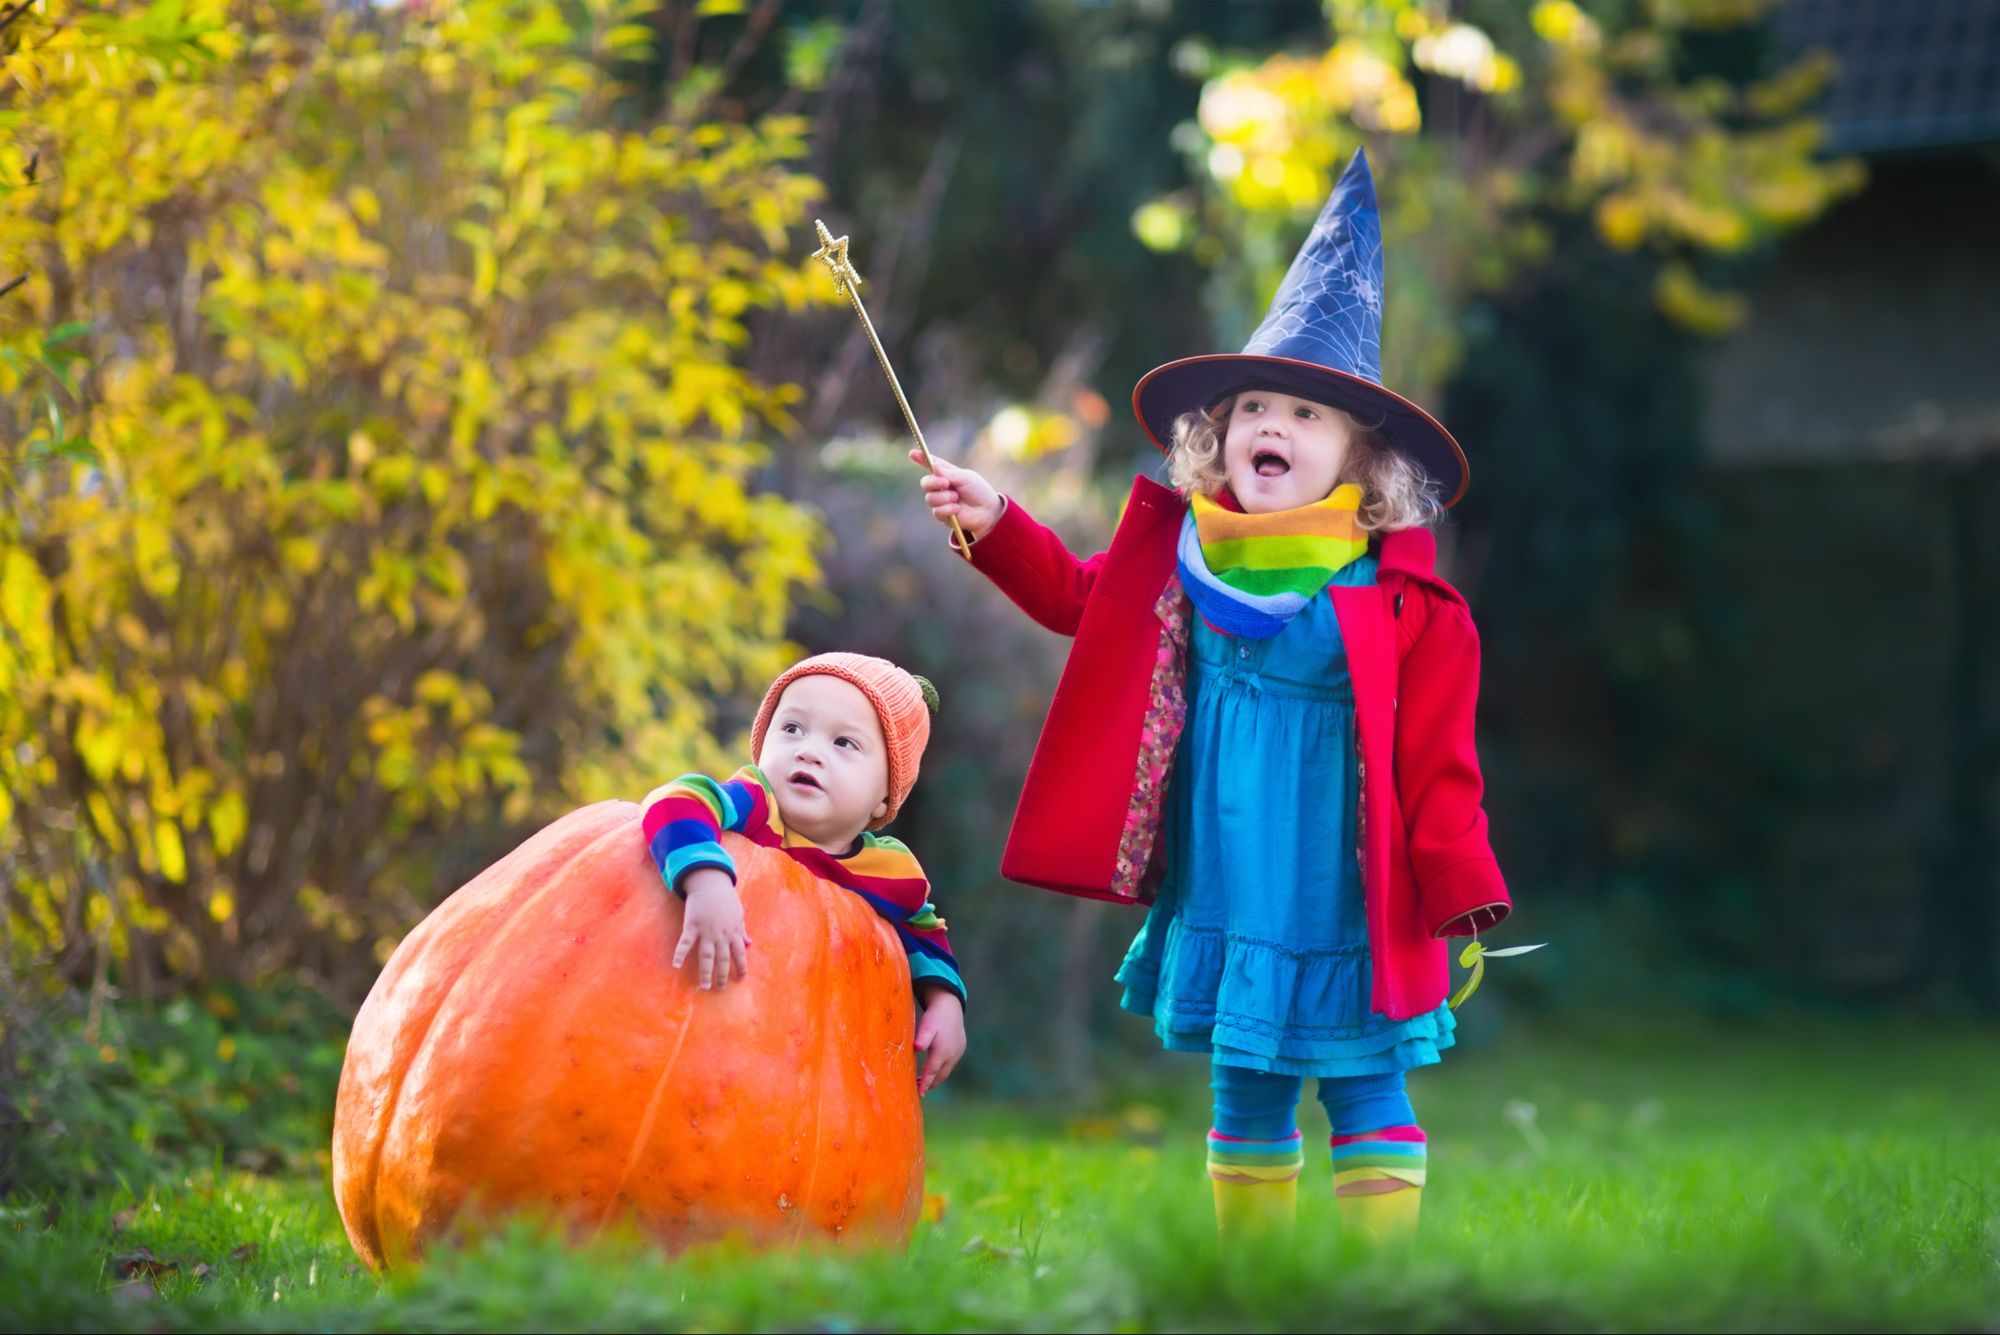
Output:
M1374 584L1364 556L1334 584ZM1166 879L1126 951L1122 1005L1172 1051L1278 1075L1438 1061L1452 1011L1368 1005L1354 689L1332 598L1270 640L1192 618L1188 721L1166 795Z

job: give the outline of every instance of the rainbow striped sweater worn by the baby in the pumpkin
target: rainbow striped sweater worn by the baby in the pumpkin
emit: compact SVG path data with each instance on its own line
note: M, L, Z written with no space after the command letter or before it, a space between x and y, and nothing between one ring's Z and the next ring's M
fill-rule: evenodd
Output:
M646 795L640 823L646 847L674 893L682 893L680 879L696 867L716 867L736 879L736 863L720 843L724 829L764 847L782 847L806 871L852 889L896 927L910 957L912 985L942 983L964 1001L966 983L958 977L944 919L930 903L930 881L900 839L864 833L860 847L846 857L828 853L784 827L770 781L756 765L744 765L724 783L706 773L684 773Z

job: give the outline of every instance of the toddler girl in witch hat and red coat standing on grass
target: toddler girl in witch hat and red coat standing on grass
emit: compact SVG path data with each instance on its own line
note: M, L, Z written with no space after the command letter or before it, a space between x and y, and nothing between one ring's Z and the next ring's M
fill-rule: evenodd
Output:
M1414 1229L1404 1073L1452 1043L1444 937L1510 911L1478 638L1430 532L1466 462L1382 388L1380 310L1356 154L1246 350L1134 390L1174 488L1140 478L1108 552L1078 560L972 470L924 478L972 564L1076 638L1002 871L1152 903L1118 981L1168 1049L1210 1057L1224 1235L1290 1221L1308 1075L1342 1219Z

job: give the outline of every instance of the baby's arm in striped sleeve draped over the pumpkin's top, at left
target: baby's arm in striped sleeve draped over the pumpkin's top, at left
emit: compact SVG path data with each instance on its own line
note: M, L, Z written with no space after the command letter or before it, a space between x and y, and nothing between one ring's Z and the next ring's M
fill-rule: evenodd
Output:
M686 773L646 797L640 815L646 847L668 887L688 903L674 967L694 953L700 987L722 989L732 973L750 977L750 935L736 893L736 861L720 839L724 829L742 833L762 801L764 793L752 783L716 783L702 773Z

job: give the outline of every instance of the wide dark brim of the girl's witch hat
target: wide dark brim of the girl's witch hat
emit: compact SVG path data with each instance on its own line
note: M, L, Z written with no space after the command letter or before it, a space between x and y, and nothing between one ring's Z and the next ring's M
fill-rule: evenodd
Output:
M1372 380L1348 376L1316 362L1274 358L1252 352L1218 352L1200 358L1180 358L1146 372L1132 388L1132 414L1152 444L1168 454L1174 448L1174 418L1242 390L1276 390L1314 404L1328 404L1354 414L1362 422L1382 422L1382 430L1438 484L1450 510L1466 494L1472 470L1466 452L1452 434L1428 412Z

